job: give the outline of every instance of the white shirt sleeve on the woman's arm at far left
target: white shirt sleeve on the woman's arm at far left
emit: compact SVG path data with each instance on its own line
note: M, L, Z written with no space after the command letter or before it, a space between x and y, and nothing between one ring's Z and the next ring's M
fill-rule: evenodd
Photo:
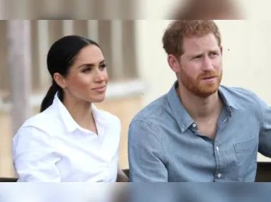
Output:
M18 130L13 138L13 164L22 182L60 182L57 155L51 136L28 126Z

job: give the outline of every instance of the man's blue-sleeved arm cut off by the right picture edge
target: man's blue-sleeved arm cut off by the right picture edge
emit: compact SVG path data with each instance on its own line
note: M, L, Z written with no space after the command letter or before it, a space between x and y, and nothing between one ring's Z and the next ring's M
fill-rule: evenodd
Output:
M271 108L262 100L260 112L259 152L265 157L271 157Z

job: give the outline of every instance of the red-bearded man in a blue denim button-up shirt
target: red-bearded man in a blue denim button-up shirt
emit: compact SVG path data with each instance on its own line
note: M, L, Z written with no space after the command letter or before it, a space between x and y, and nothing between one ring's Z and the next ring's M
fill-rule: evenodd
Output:
M271 109L220 84L216 23L173 21L162 43L177 82L131 122L131 181L255 181L258 151L271 157Z

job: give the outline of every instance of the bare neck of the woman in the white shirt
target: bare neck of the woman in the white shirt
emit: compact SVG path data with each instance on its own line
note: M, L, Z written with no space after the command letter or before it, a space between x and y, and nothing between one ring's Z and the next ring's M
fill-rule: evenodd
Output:
M94 123L92 103L64 98L63 104L78 125L86 129L92 128L92 124Z

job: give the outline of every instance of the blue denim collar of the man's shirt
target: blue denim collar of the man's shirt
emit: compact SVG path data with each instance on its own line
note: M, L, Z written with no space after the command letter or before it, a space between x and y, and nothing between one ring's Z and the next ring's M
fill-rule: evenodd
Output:
M178 82L176 81L170 91L167 93L167 101L172 110L173 116L179 125L179 128L184 132L187 128L190 127L194 123L194 120L189 116L187 110L182 105L182 102L179 100L179 96L177 96L176 88L178 86ZM229 109L230 113L233 112L233 108L238 109L236 103L232 99L231 94L226 91L224 86L219 87L219 94L223 99L223 102L226 104L226 108Z

